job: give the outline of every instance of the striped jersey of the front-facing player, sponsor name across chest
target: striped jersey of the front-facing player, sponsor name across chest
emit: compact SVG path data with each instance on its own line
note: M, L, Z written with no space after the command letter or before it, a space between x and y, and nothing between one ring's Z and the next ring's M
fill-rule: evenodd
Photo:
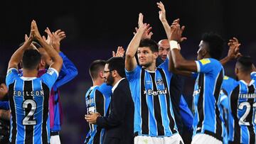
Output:
M139 65L132 72L126 70L134 100L135 135L171 136L178 133L169 94L172 74L168 63L167 59L154 72Z

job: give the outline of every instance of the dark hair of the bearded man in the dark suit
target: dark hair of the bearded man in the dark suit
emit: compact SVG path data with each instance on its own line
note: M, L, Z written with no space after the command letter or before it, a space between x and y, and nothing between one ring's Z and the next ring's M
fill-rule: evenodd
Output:
M107 60L107 64L110 70L117 70L120 77L126 77L124 72L123 57L111 57L109 60Z

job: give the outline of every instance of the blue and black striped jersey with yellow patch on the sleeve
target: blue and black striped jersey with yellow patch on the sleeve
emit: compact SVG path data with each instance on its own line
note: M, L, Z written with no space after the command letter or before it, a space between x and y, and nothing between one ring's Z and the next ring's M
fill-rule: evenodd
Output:
M193 92L193 135L205 133L223 140L223 122L218 102L224 70L218 60L206 58L196 61L197 78Z

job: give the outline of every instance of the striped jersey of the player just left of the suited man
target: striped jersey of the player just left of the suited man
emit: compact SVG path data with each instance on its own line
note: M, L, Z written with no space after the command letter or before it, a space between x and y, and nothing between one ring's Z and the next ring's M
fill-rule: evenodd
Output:
M106 83L100 86L90 87L85 94L87 114L89 112L98 112L101 116L106 116L107 109L110 106L111 95L112 87L107 86ZM97 127L94 124L89 124L89 126L90 131L87 133L85 143L101 144L105 129Z

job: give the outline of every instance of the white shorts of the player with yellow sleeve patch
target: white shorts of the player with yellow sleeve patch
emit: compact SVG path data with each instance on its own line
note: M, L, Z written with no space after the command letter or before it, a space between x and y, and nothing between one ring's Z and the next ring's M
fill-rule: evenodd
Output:
M222 144L223 142L205 133L198 133L192 138L191 144Z

